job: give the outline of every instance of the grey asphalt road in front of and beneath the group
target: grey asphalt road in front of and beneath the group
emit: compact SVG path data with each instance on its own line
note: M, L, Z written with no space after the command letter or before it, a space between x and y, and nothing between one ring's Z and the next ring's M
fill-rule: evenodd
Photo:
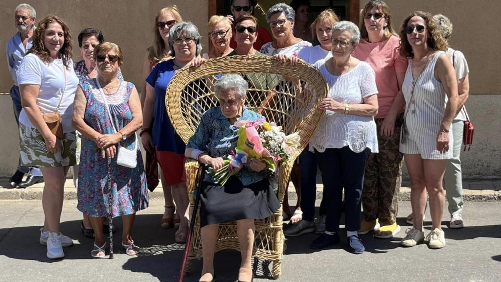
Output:
M174 229L159 227L161 201L139 212L134 239L142 249L139 256L128 256L120 246L121 221L114 222L115 258L92 259L92 239L80 232L81 214L75 200L65 201L62 231L75 244L65 248L66 257L50 260L46 247L39 244L43 222L42 202L38 200L0 201L0 281L177 281L184 245L174 243ZM398 223L402 230L394 239L362 235L366 252L355 255L345 250L345 240L328 250L309 248L316 237L306 234L287 240L282 276L277 281L499 281L501 276L501 203L466 202L466 226L451 230L443 222L447 245L432 250L425 244L412 248L399 246L408 227L405 216L409 202L400 202ZM429 219L429 214L426 215ZM448 219L446 214L444 219ZM427 230L431 222L425 222ZM428 231L429 232L429 231ZM341 231L341 235L344 231ZM223 251L215 256L217 282L234 281L240 255ZM258 263L260 273L263 263ZM185 281L198 281L201 261L193 265ZM255 281L267 281L256 278Z

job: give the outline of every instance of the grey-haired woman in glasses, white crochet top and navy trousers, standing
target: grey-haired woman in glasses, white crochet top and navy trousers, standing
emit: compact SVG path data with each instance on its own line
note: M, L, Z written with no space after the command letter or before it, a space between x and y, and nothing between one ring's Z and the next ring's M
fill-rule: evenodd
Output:
M331 35L333 57L314 64L329 85L328 97L319 104L326 111L325 116L310 141L322 168L329 206L326 231L313 241L311 248L321 249L339 242L344 188L348 248L353 253L363 253L365 248L357 231L365 163L371 152L378 152L373 118L378 110L378 90L371 66L352 57L360 41L358 27L348 21L337 22Z

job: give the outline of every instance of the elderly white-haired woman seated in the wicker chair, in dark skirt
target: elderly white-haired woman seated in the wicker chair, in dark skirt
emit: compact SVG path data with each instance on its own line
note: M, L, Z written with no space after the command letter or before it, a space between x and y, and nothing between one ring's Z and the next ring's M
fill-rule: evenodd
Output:
M244 106L247 82L237 74L225 74L214 85L219 107L207 110L195 134L186 145L186 157L210 165L223 166L223 158L236 147L238 139L234 124L239 120L257 120L262 115ZM273 177L265 171L266 164L251 159L248 167L232 176L224 186L207 175L201 191L200 226L203 248L203 269L200 281L212 281L214 250L219 223L236 221L241 264L238 281L253 279L250 259L254 246L255 219L271 216L280 207Z

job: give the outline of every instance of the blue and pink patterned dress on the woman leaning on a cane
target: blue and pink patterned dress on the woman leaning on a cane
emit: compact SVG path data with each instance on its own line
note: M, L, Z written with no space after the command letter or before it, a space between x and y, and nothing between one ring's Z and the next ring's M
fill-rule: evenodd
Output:
M81 87L87 98L85 122L103 134L114 133L108 109L95 80L88 80L82 83ZM106 95L117 130L132 120L128 101L133 89L134 84L122 81L116 93ZM120 144L131 150L134 148L134 142L135 135L131 135ZM113 217L134 214L148 207L148 191L141 151L137 150L136 168L117 165L116 157L111 159L108 168L108 158L102 158L101 151L96 152L95 148L94 140L82 136L77 208L91 217L108 216L108 177L112 182Z

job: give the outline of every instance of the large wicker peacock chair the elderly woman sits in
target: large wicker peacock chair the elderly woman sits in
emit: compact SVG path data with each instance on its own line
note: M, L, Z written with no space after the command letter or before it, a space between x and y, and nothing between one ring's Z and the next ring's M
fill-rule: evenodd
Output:
M261 112L268 121L282 125L286 134L299 132L301 136L301 146L292 153L291 160L281 164L277 170L278 198L281 203L279 210L269 218L256 220L255 260L273 262L271 276L278 278L284 248L284 192L289 185L294 160L308 144L322 118L323 112L317 105L326 97L328 87L324 77L312 66L303 62L295 66L268 56L230 56L210 59L198 68L185 67L169 83L165 99L172 125L185 143L195 132L202 114L218 106L213 96L214 76L224 73L240 73L250 81L245 100L249 109ZM191 216L198 162L188 159L185 169ZM190 269L191 259L202 257L199 220L197 216L186 269ZM222 223L219 227L215 249L219 251L227 248L239 250L235 222ZM264 272L270 273L267 270Z

